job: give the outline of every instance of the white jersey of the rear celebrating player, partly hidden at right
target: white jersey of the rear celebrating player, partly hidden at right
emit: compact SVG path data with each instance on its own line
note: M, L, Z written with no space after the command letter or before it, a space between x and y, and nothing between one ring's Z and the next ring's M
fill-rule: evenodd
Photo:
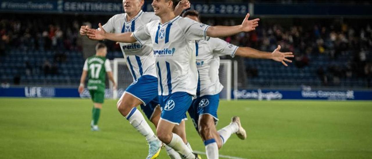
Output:
M219 38L208 41L199 40L195 43L196 67L199 71L200 90L197 95L215 95L221 92L224 86L219 82L219 56L230 55L234 57L238 46L232 45Z

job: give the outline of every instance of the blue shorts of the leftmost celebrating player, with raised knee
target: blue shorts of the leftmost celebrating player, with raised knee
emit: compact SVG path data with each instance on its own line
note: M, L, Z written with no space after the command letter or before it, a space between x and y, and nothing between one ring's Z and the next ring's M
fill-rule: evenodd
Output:
M159 105L158 78L151 75L143 75L134 81L125 93L133 95L142 101L141 109L151 119L155 108Z

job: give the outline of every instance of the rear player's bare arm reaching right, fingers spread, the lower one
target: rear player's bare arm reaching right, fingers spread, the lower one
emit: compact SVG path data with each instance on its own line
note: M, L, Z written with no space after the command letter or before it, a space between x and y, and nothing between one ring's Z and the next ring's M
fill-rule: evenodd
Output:
M287 58L293 58L292 52L280 52L280 45L273 52L259 51L249 47L239 47L235 55L247 58L272 59L274 61L282 62L283 65L288 66L286 62L292 62Z

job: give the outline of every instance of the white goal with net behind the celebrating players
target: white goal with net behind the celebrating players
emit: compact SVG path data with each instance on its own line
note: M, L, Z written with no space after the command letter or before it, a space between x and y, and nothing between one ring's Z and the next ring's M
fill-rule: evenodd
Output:
M111 67L113 68L113 77L117 83L117 88L113 90L113 99L120 98L124 93L126 87L132 84L133 78L131 72L126 65L126 60L124 58L115 58L111 62ZM220 93L220 98L225 100L231 100L231 60L221 60L219 65L219 81L224 86L224 89ZM112 88L112 83L110 82L110 88Z

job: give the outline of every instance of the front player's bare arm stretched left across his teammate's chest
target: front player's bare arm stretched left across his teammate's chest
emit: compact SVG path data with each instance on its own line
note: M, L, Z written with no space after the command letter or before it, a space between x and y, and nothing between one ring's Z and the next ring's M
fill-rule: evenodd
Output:
M89 39L92 40L112 40L116 42L125 42L125 43L134 43L137 40L133 37L133 33L126 32L126 33L108 33L103 29L101 23L98 24L98 29L88 29L87 36Z

